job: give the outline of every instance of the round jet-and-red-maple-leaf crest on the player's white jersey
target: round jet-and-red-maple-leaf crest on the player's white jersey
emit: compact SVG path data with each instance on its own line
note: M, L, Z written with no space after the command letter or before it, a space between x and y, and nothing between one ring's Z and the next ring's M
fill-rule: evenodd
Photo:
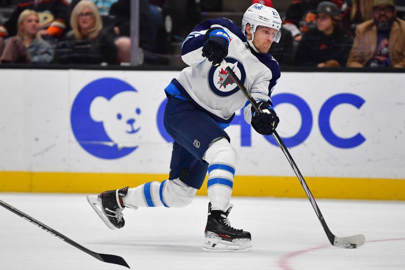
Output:
M236 59L226 57L225 61L242 83L245 83L244 66ZM208 83L212 92L221 97L227 97L239 90L228 72L221 66L212 66L208 72Z

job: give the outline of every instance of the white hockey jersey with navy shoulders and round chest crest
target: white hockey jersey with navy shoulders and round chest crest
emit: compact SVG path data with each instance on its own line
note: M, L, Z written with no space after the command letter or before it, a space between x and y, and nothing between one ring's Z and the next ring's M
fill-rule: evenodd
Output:
M182 59L189 67L184 68L165 91L190 100L207 111L218 123L227 126L235 111L248 103L221 65L213 66L212 62L201 56L204 34L211 27L221 27L229 34L228 56L225 60L255 100L270 100L272 89L280 77L280 68L270 54L256 53L251 49L240 27L231 20L207 20L194 27L182 44Z

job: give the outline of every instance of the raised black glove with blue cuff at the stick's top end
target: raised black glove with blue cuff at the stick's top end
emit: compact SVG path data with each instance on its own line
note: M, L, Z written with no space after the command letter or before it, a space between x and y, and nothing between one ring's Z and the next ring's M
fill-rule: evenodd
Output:
M204 36L203 57L216 66L228 55L229 35L220 27L210 28Z

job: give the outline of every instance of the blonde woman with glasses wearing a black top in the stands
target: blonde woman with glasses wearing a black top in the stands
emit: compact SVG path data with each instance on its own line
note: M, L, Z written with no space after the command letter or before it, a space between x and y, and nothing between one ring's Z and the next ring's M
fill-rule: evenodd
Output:
M102 28L97 6L91 0L80 1L72 10L72 28L57 44L57 61L67 64L117 64L113 37Z

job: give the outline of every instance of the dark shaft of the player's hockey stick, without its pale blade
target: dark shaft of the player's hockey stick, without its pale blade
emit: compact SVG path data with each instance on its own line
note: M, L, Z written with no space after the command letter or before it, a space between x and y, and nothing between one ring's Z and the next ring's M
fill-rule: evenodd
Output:
M239 89L244 93L246 98L252 104L252 107L255 109L255 111L257 113L262 112L259 109L259 106L258 106L256 100L252 97L252 94L248 91L248 89L246 89L246 87L242 84L242 82L240 82L239 78L237 78L236 74L233 73L233 70L227 65L225 60L222 61L221 65L223 67L226 66L226 68L225 68L226 72L231 76L232 80L236 83L236 85L239 87ZM278 135L278 133L275 130L273 131L273 137L274 137L275 141L277 142L278 146L280 146L282 152L284 152L284 155L286 156L288 162L290 163L295 174L297 175L298 180L300 181L302 187L304 188L305 194L307 195L309 201L311 202L313 210L315 211L315 213L320 221L320 224L323 227L323 230L325 230L325 233L329 239L329 242L331 242L331 244L334 245L335 236L332 234L331 230L329 229L328 225L326 224L326 221L323 218L318 205L316 204L315 198L313 197L311 191L309 190L309 187L308 187L307 183L305 182L304 177L302 176L300 170L298 169L297 165L295 164L293 157L290 155L290 152L287 149L287 146L284 144L284 142L281 140L280 136Z

